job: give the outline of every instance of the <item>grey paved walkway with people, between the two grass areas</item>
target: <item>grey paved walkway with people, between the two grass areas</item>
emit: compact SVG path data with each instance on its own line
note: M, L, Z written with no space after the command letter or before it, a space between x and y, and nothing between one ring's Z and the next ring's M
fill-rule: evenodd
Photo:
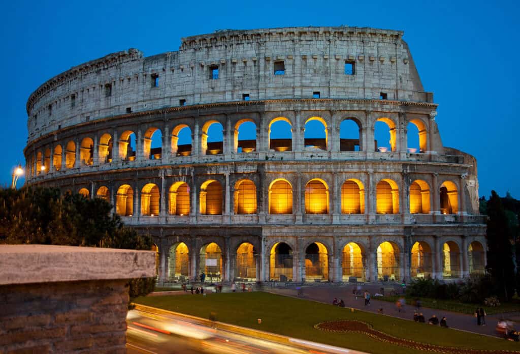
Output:
M374 297L373 295L379 292L381 284L361 285L362 291L366 289L372 295L370 298L370 306L364 305L365 299L363 299L363 296L359 296L356 298L356 296L353 295L353 289L355 287L356 285L313 285L307 287L303 286L303 298L332 304L332 300L334 299L334 297L337 297L338 300L343 299L346 307L375 313L378 312L378 309L382 308L383 314L385 315L391 315L406 320L413 320L413 312L415 310L414 306L405 305L405 312L402 312L402 310L401 312L398 312L395 304L393 304L392 302L376 300L376 297ZM385 288L386 287L388 286L385 286ZM294 297L297 296L297 290L295 288L265 288L264 290L279 295ZM457 328L459 330L470 331L479 334L486 334L493 337L498 336L498 334L495 332L495 326L497 325L500 315L489 315L486 317L486 326L477 326L477 320L472 315L424 307L421 308L420 312L423 313L426 322L430 317L432 317L433 314L437 316L439 321L441 318L446 316L448 326L452 328Z

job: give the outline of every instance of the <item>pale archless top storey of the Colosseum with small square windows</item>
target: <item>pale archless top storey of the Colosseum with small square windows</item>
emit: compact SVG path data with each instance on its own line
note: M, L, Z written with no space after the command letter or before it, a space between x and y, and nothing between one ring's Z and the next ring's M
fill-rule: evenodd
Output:
M31 94L29 141L85 121L179 105L316 93L432 102L402 34L356 27L225 30L186 37L177 52L113 53Z

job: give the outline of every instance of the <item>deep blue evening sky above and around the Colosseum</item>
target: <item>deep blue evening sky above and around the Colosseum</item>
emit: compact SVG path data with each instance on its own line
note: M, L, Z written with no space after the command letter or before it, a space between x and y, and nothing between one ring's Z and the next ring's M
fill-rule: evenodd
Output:
M10 184L13 168L24 161L27 98L72 66L131 47L145 56L178 50L181 37L217 29L346 24L404 31L425 91L439 104L444 145L477 158L480 195L509 190L520 198L519 4L3 1L0 185Z

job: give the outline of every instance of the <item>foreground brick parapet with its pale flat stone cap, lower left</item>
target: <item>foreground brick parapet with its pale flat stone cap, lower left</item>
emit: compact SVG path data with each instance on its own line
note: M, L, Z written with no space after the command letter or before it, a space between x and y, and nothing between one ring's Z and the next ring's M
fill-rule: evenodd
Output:
M151 251L0 246L0 353L126 352L127 280Z

